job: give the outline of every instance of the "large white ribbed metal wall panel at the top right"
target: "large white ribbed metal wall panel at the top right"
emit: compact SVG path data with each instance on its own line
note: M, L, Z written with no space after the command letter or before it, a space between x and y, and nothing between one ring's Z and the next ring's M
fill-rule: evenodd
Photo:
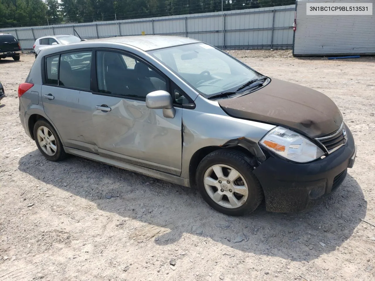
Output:
M353 0L297 1L297 30L293 54L298 55L374 55L375 1L372 15L306 15L307 3L356 3ZM357 2L358 3L358 2Z

